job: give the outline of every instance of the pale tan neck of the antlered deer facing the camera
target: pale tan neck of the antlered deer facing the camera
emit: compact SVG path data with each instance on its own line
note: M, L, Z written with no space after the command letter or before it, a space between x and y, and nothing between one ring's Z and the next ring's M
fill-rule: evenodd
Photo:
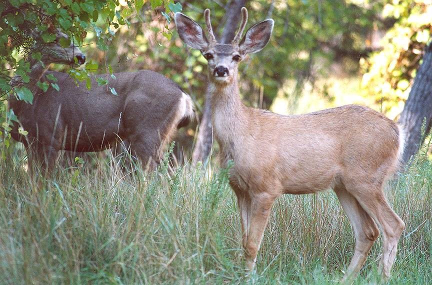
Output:
M232 159L236 141L247 123L246 107L240 100L236 80L228 84L210 82L208 88L211 94L211 121L214 136L224 158Z

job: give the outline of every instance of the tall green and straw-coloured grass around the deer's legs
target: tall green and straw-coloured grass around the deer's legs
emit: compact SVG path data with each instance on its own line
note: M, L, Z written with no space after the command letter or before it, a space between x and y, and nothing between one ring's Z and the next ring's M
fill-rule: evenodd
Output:
M214 164L125 175L109 157L96 158L31 183L22 157L12 151L0 165L1 284L335 284L353 253L331 191L276 200L247 275L236 199ZM389 283L432 282L431 188L425 159L389 184L388 200L406 223ZM381 244L356 284L379 280Z

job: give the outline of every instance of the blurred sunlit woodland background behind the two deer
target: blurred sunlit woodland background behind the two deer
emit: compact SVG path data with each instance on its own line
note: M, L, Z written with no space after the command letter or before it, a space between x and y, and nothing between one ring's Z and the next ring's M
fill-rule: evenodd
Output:
M108 2L115 5L113 22L119 24L108 25L99 14L82 31L80 49L98 64L96 73L150 69L189 93L196 103L197 119L177 139L177 150L181 147L188 155L192 155L194 140L208 144L210 133L211 142L208 130L207 142L196 135L197 126L205 120L206 60L180 41L173 11L181 10L204 25L203 10L210 8L218 38L225 36L225 29L235 30L242 5L249 11L246 29L265 18L274 19L269 44L239 66L246 105L293 114L356 103L393 120L399 118L408 97L430 38L432 18L431 0ZM170 9L168 3L177 6ZM5 70L10 67L5 61L1 64ZM195 151L204 152L202 159L209 150Z

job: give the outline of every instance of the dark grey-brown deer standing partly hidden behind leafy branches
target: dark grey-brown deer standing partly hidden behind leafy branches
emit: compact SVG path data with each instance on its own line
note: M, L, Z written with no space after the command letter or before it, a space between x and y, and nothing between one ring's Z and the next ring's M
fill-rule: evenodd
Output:
M124 141L142 167L153 170L177 128L187 125L192 117L190 96L170 79L151 70L97 75L108 81L107 86L113 87L118 95L112 94L106 85L99 86L95 76L91 77L91 89L77 85L67 73L46 70L50 63L85 62L85 55L73 43L61 47L58 43L61 38L68 36L56 30L55 41L41 45L40 36L34 36L43 64L30 63L33 103L13 96L8 100L9 108L19 120L13 123L11 136L24 144L28 164L47 174L60 150L101 151ZM49 75L57 78L59 91L50 86L43 92L36 86L38 80L46 80ZM20 133L19 127L28 134ZM31 168L28 171L33 176Z

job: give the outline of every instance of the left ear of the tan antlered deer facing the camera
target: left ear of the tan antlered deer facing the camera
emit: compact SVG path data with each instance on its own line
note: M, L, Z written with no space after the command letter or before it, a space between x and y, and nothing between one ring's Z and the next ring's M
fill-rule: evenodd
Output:
M203 50L208 46L207 38L202 28L191 18L183 13L174 15L175 27L181 40L189 47Z

